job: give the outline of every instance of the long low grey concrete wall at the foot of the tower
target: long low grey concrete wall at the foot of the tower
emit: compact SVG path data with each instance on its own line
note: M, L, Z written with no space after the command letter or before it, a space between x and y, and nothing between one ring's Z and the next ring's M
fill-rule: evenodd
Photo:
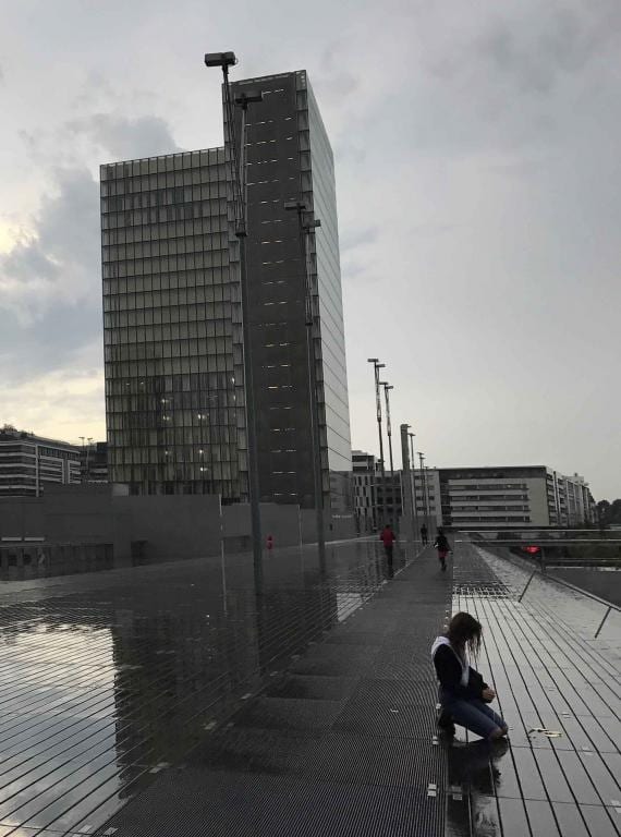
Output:
M261 504L261 532L276 548L314 543L315 512ZM326 539L353 537L354 519L326 511ZM129 496L111 485L54 486L39 499L0 500L0 537L112 544L114 565L217 556L252 548L249 506L212 495ZM138 544L138 542L142 542Z

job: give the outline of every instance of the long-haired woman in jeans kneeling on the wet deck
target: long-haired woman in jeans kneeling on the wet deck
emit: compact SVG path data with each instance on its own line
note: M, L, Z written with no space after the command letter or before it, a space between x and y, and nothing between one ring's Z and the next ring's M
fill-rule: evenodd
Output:
M470 614L456 614L442 636L431 646L431 658L440 681L438 726L454 736L454 724L470 729L488 741L508 732L504 720L488 704L496 692L468 664L468 653L475 660L480 648L483 628Z

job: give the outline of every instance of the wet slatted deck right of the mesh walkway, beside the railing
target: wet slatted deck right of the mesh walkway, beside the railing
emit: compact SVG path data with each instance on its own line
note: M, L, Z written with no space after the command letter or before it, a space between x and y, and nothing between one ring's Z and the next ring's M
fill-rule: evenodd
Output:
M449 781L463 793L455 801L449 791L449 833L617 835L619 623L613 616L593 639L606 608L540 578L519 602L528 570L459 545L453 609L484 626L479 665L499 695L510 748L488 760L465 735L449 748Z

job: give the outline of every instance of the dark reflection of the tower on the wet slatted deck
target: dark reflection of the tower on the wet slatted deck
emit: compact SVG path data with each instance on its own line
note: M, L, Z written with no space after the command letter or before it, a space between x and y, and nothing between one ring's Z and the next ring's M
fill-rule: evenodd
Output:
M265 686L268 671L291 664L337 623L338 583L320 583L317 571L291 561L278 577L256 597L244 587L244 566L218 559L188 574L178 570L176 583L185 582L181 602L171 598L170 575L137 584L131 609L123 609L121 593L110 632L123 767L176 762L199 741L208 749L206 729L247 705L244 695ZM278 681L270 683L273 694ZM289 681L281 686L290 696Z

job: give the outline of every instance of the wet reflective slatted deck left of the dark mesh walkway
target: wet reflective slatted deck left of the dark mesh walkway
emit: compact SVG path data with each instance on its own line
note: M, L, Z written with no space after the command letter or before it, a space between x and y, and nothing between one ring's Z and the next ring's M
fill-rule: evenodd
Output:
M5 605L0 827L97 826L390 572L376 544L355 543L329 546L325 573L314 550L291 549L269 556L260 583L252 557L226 556Z

